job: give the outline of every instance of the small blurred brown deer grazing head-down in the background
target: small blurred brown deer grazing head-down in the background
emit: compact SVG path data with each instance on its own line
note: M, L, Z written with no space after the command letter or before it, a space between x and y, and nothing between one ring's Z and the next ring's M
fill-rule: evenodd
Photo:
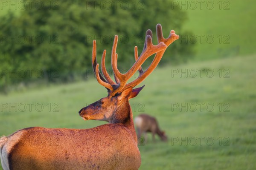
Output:
M161 131L157 119L147 114L140 114L135 117L134 124L137 127L138 139L144 133L145 143L147 142L147 132L152 133L153 141L155 142L155 134L157 134L162 141L167 141L167 136L164 131ZM143 142L143 141L141 141Z

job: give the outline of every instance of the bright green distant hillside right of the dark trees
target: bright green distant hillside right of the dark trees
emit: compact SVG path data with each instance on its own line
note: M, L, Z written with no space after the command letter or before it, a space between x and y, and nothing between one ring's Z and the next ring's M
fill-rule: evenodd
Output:
M189 18L184 29L194 34L187 40L194 42L193 38L197 38L196 59L255 53L256 1L207 0L202 5L192 0L174 2L182 2L182 10L187 11Z

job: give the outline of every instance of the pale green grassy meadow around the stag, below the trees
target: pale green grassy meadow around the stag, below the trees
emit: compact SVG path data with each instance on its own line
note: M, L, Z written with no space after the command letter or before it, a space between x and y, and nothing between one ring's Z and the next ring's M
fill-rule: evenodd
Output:
M140 169L256 169L255 62L256 56L234 57L155 70L130 104L135 116L156 116L169 141L148 136L139 146ZM84 122L78 111L106 95L90 79L0 96L0 136L30 126L101 125Z

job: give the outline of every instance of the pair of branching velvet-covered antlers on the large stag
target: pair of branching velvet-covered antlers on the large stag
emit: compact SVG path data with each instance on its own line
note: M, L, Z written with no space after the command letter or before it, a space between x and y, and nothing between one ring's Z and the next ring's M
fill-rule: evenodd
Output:
M138 49L137 46L134 47L134 57L135 57L135 63L134 65L125 73L122 74L119 72L117 68L117 54L116 54L116 46L118 41L118 36L115 36L112 52L111 52L111 65L114 72L114 77L116 80L116 83L113 82L111 77L109 76L106 68L105 68L105 56L106 56L106 50L104 50L102 54L102 74L106 78L99 73L99 64L97 64L96 60L96 41L93 40L93 55L92 55L92 62L93 62L93 70L96 74L96 78L99 82L99 84L103 85L105 88L108 89L108 93L111 95L115 95L117 93L121 93L123 90L129 88L129 87L135 87L136 85L140 84L151 72L157 67L158 63L160 62L161 58L163 57L163 54L166 50L166 48L175 40L179 38L178 35L175 34L175 31L171 31L170 35L167 39L163 37L162 33L162 26L160 24L157 24L157 45L152 44L152 31L147 30L146 31L146 38L144 43L144 48L142 53L140 54L140 57L138 57ZM151 65L148 66L148 68L143 71L141 65L145 60L150 57L151 55L156 54L153 61L151 62ZM135 74L136 71L139 71L140 76L135 79L134 81L127 83L127 81Z

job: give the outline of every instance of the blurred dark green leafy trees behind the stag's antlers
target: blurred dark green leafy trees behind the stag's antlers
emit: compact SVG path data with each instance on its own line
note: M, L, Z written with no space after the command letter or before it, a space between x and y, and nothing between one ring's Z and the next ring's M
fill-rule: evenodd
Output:
M18 15L9 11L0 17L0 88L23 82L70 82L92 73L92 41L97 42L97 57L107 49L106 66L111 68L114 35L119 69L134 63L134 46L143 49L145 32L160 23L164 37L174 29L181 32L187 16L169 0L23 0L17 3ZM183 43L184 42L184 43ZM163 63L180 63L193 56L192 44L176 41L166 50ZM147 66L151 60L145 63ZM144 66L144 65L143 65Z

